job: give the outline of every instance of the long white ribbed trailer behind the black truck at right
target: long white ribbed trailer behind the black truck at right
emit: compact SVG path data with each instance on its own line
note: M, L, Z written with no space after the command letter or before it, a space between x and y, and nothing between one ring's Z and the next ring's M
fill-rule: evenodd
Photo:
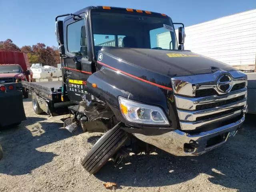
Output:
M188 26L185 33L186 50L222 61L240 70L254 70L256 9ZM158 46L169 49L169 44L162 44L169 35L168 32L158 34Z

